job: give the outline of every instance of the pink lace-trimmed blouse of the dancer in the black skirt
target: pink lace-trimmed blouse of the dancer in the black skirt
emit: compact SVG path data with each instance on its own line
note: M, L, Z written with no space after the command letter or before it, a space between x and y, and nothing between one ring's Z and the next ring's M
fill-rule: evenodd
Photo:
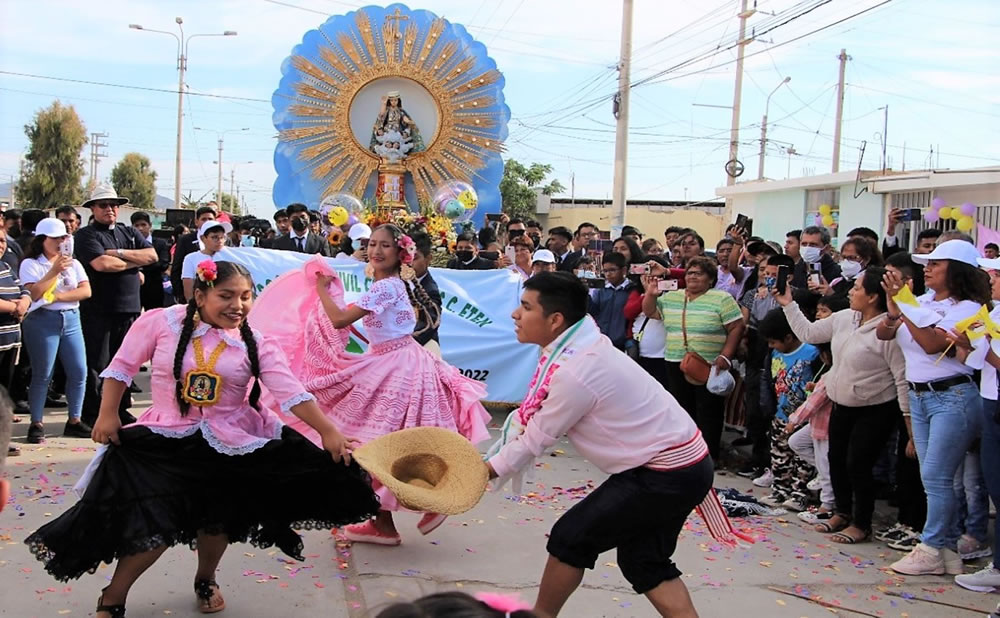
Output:
M269 440L281 437L283 423L277 415L263 408L258 411L250 405L253 380L246 344L239 331L212 328L202 322L192 337L201 336L205 360L220 341L226 349L215 364L214 372L222 377L222 394L219 403L199 408L191 406L186 416L181 416L175 394L173 376L174 354L184 321L185 305L166 309L153 309L142 314L129 329L121 348L102 378L132 383L139 367L152 359L150 377L153 405L146 410L136 425L148 427L154 433L168 438L190 436L199 429L205 440L216 451L225 455L243 455L259 449ZM303 401L314 400L299 380L288 369L285 355L269 337L256 330L257 357L260 360L260 379L281 411L288 412ZM194 350L191 345L184 354L181 376L193 369Z

